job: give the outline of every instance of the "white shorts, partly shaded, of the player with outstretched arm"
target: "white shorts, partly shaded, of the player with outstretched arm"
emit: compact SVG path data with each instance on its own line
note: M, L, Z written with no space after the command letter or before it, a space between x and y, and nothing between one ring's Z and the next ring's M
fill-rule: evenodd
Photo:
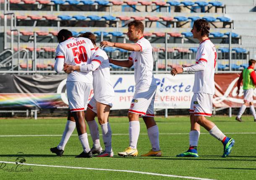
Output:
M128 112L140 114L140 117L154 117L154 100L156 91L156 86L149 86L145 89L135 91Z

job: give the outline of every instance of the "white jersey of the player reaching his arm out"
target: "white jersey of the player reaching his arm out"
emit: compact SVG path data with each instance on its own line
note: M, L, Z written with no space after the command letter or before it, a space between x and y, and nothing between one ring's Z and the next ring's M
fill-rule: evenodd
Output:
M141 37L136 44L140 46L141 51L131 52L128 58L130 61L133 61L136 90L147 86L157 86L153 75L154 60L152 46L144 37Z

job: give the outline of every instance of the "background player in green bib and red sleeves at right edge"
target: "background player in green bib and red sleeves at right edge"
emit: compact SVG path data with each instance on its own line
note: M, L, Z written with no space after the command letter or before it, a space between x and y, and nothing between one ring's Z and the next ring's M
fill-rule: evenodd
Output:
M237 94L239 94L240 85L241 85L241 82L243 81L243 94L244 94L243 95L244 104L240 107L238 115L235 118L239 122L242 122L241 116L243 115L243 112L246 110L246 106L248 106L249 104L250 104L251 114L253 114L254 122L256 122L256 112L253 106L253 91L256 85L256 75L254 71L255 64L256 64L255 60L253 59L249 60L249 67L244 69L241 72L240 77L238 79L238 84L237 84L238 90L236 92Z

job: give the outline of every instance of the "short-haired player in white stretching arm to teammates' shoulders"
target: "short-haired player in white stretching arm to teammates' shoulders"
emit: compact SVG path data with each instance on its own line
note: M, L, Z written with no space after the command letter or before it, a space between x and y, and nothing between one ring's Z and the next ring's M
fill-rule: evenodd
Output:
M100 46L117 47L131 52L126 61L110 59L110 63L117 66L128 67L134 65L135 94L128 111L129 118L129 139L130 145L123 152L118 152L119 156L137 156L137 142L140 132L139 116L148 129L148 136L152 144L152 150L142 156L161 156L159 147L159 130L154 121L154 99L157 90L157 83L153 75L152 46L143 37L144 25L141 21L134 20L128 24L128 38L131 43L112 43L102 41Z

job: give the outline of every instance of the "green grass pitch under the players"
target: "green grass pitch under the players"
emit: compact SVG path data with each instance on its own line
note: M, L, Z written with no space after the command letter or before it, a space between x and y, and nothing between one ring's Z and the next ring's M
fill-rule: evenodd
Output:
M0 179L186 179L164 177L134 172L116 172L104 170L74 169L67 167L44 167L55 165L68 167L89 167L108 170L131 170L158 174L206 178L214 180L255 180L256 179L256 122L253 117L243 117L244 122L235 118L217 116L209 118L228 137L235 139L235 146L229 157L222 158L223 145L201 128L199 139L199 157L181 158L177 154L188 149L188 116L155 117L159 127L162 157L118 157L129 143L128 118L110 117L112 127L112 147L114 157L75 158L82 152L76 131L65 147L63 157L56 157L50 147L56 147L61 136L24 136L24 135L57 135L62 134L66 118L60 119L0 119ZM89 131L89 128L87 128ZM99 128L100 129L100 128ZM89 132L88 132L89 133ZM144 122L141 119L141 131L138 139L138 153L150 150L150 142ZM23 135L13 137L6 135ZM92 145L91 137L89 143ZM103 146L102 136L101 145ZM24 154L17 155L18 152ZM1 161L16 162L23 157L28 164L40 166L6 164ZM30 170L28 168L30 167ZM8 171L9 170L9 171ZM23 170L23 171L21 171Z

